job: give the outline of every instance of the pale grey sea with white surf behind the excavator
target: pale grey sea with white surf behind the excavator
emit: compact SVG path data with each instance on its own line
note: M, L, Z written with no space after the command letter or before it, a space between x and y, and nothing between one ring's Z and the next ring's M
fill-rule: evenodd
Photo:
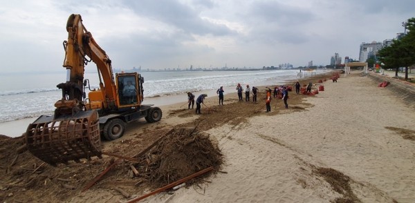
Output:
M317 70L317 74L325 70ZM144 77L144 104L151 98L165 98L184 95L186 92L199 93L223 86L230 93L240 83L243 86L266 86L283 84L297 78L299 70L228 70L228 71L171 71L140 72ZM91 88L98 88L98 73L88 72ZM0 124L40 115L52 115L55 102L62 97L56 85L64 82L66 71L49 73L10 73L0 75ZM195 94L196 95L196 94ZM160 97L159 97L160 96ZM197 95L196 95L197 96ZM183 101L186 101L186 97ZM160 104L169 104L164 99ZM174 99L172 101L175 101ZM177 102L176 102L177 103ZM33 120L34 120L33 119ZM0 129L0 134L1 134Z

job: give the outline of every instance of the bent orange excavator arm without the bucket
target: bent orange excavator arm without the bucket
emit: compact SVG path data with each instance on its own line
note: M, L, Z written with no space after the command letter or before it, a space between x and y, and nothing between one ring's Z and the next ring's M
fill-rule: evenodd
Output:
M91 32L88 32L82 23L79 14L71 14L66 23L68 41L64 41L66 68L66 82L58 84L62 89L62 99L55 104L55 119L61 115L76 113L84 108L84 68L88 62L93 61L100 75L100 91L104 101L103 108L114 108L116 99L116 84L111 67L111 59L105 53ZM88 59L89 58L89 59ZM75 109L75 110L74 110Z

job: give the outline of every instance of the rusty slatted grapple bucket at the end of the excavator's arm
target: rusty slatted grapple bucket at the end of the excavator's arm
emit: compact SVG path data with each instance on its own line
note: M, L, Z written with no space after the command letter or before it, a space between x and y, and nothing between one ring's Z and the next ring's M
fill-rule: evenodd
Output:
M25 141L30 153L52 166L101 157L98 113L81 111L59 119L42 115L28 126Z

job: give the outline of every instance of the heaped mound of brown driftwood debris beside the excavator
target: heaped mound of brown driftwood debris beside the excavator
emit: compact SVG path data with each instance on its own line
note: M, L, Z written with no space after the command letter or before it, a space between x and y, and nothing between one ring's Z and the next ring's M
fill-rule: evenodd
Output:
M136 168L141 174L149 174L149 182L163 186L213 166L219 171L223 155L216 144L212 144L207 133L196 132L196 128L181 128L165 135L157 146L141 160ZM190 180L192 184L197 180Z

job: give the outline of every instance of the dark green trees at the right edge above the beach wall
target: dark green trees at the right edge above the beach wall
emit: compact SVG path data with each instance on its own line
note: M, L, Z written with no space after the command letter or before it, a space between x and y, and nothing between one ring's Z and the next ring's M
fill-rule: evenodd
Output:
M379 61L384 68L396 68L395 77L398 77L398 69L405 67L405 79L408 79L408 66L415 64L415 18L408 19L407 30L407 35L398 40L394 39L391 46L378 52Z

